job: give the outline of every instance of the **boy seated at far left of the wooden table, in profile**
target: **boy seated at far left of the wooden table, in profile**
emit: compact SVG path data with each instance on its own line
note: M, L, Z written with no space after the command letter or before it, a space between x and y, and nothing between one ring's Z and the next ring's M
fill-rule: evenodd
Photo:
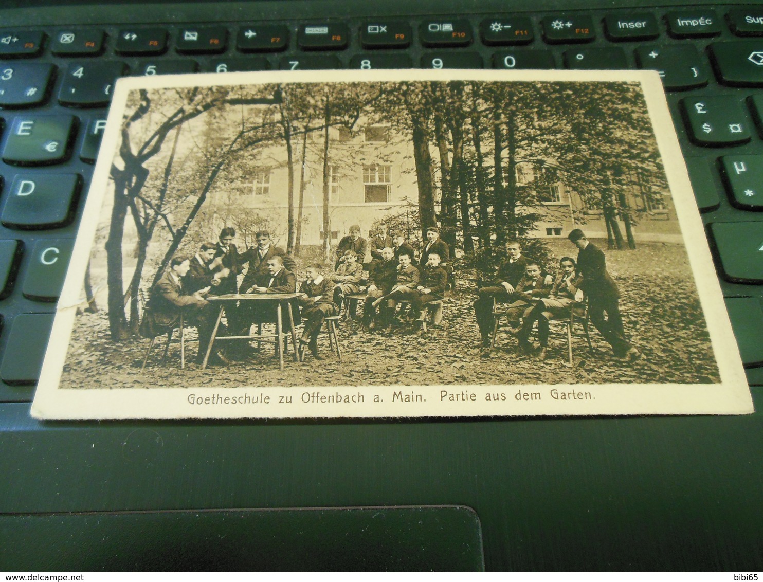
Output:
M175 255L169 261L169 268L151 290L148 309L140 321L140 335L153 339L163 333L169 333L180 325L180 314L183 314L183 323L198 328L196 363L201 363L209 346L214 322L217 320L217 307L204 299L209 287L192 292L185 290L182 281L188 275L190 267L191 259L185 255ZM228 360L221 353L214 352L210 362L228 363Z

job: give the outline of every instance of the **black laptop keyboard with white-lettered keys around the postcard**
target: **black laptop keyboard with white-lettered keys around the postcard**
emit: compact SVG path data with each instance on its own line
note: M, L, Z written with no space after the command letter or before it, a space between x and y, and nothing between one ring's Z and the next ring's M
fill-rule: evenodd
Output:
M0 28L0 401L34 394L116 79L407 68L659 70L748 378L763 384L763 8L727 5Z

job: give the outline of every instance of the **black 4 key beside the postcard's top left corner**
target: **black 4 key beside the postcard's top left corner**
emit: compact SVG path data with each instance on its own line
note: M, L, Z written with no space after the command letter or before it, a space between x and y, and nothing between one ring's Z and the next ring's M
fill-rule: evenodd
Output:
M61 105L105 107L114 93L114 82L124 75L124 63L72 63L58 92Z

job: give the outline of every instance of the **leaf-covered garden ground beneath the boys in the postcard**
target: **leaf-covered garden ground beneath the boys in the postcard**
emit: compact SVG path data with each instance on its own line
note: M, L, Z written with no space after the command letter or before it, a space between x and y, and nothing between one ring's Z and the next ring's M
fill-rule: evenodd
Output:
M556 256L576 256L565 241L552 243ZM600 244L600 241L596 241ZM601 248L606 249L606 246ZM572 251L572 252L571 252ZM521 355L517 340L499 331L496 349L481 357L472 302L475 272L462 265L459 285L446 300L443 322L426 333L410 328L385 334L364 332L357 321L339 328L343 362L329 350L325 333L319 339L324 360L308 354L285 370L271 346L250 362L202 370L193 363L198 344L187 346L181 371L179 344L173 343L166 365L160 365L163 336L146 369L141 371L148 339L114 343L105 312L82 314L76 320L63 371L66 388L359 386L379 384L610 384L713 383L719 381L710 338L694 291L694 278L683 247L641 243L633 251L607 251L610 274L620 287L620 310L626 334L642 353L637 362L616 359L610 346L591 326L594 352L589 352L581 326L573 337L574 363L568 364L565 327L552 326L545 361ZM192 335L192 334L191 334ZM175 338L177 334L175 334Z

